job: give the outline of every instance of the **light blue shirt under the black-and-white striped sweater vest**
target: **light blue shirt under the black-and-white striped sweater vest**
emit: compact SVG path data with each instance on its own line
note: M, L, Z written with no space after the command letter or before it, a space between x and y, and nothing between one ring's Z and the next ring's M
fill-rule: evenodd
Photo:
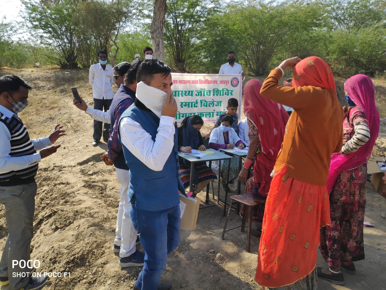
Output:
M8 110L6 107L0 105L0 112L7 118L16 116L14 112ZM51 145L51 141L48 137L41 139L31 139L32 144L36 150L43 149ZM27 168L29 165L41 160L40 153L32 155L25 155L19 157L12 157L9 155L11 152L11 133L4 123L0 122L0 172L17 171Z

